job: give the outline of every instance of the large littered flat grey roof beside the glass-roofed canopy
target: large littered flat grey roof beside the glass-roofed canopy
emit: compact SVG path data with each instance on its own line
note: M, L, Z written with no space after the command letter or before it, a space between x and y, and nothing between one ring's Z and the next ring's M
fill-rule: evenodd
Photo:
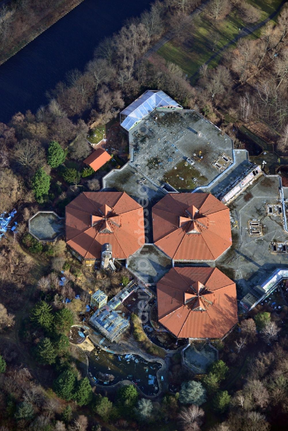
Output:
M144 135L139 132L143 126L149 129ZM180 188L183 191L191 191L198 185L206 185L214 180L220 172L212 164L223 153L233 160L231 138L222 136L215 125L193 110L154 111L130 131L129 142L130 148L133 147L130 164L158 186L165 182L167 172L173 175L175 171L175 178L179 176L174 167L180 162L187 157L194 160L192 169L188 165L187 173L183 175L185 179L195 180L189 184L190 187L183 181L183 188ZM203 159L198 157L200 151Z

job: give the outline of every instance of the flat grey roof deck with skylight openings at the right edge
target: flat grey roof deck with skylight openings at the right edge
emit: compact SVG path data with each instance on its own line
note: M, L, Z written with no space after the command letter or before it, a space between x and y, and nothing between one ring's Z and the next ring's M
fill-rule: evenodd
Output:
M267 205L281 206L279 187L278 175L263 175L229 205L232 247L217 259L216 266L235 280L239 299L253 293L253 287L261 284L276 268L288 265L288 253L271 253L272 241L288 241L282 215L267 214ZM260 220L263 236L249 235L248 222L253 219ZM233 220L237 221L238 228Z

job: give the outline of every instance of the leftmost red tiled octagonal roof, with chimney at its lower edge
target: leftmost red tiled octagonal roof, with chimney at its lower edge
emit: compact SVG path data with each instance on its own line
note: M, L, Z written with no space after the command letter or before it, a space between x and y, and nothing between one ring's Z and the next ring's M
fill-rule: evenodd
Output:
M124 192L84 192L65 209L67 244L85 259L100 259L101 247L126 259L144 243L143 208Z

